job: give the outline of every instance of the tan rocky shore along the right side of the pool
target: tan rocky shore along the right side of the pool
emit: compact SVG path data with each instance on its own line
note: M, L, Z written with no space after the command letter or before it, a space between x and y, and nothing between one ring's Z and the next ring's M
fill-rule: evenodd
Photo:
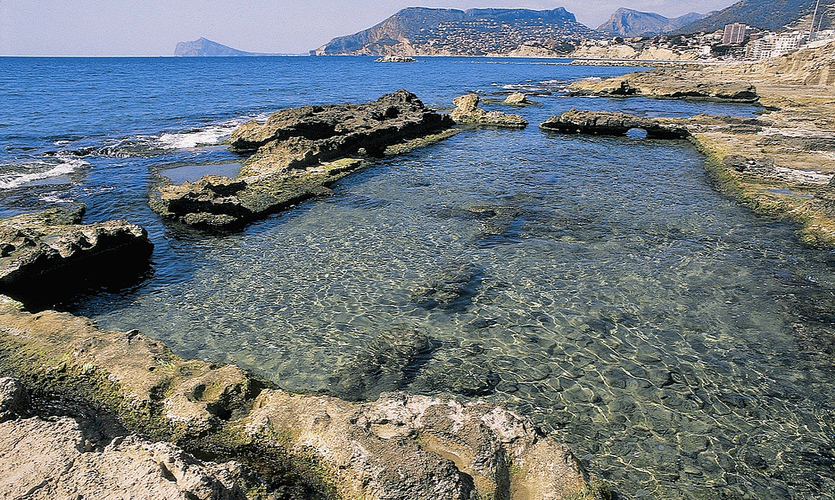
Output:
M708 170L722 190L759 213L797 221L806 243L832 246L834 84L835 44L829 44L756 63L659 68L585 80L569 89L608 97L762 105L757 117L700 115L655 121L687 129L689 139L707 155Z

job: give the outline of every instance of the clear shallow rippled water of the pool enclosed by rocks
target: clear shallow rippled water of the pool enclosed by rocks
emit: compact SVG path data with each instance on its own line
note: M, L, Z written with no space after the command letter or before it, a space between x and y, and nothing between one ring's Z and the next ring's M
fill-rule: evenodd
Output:
M465 132L78 312L290 390L506 403L622 498L832 498L833 276L794 241L684 142Z

